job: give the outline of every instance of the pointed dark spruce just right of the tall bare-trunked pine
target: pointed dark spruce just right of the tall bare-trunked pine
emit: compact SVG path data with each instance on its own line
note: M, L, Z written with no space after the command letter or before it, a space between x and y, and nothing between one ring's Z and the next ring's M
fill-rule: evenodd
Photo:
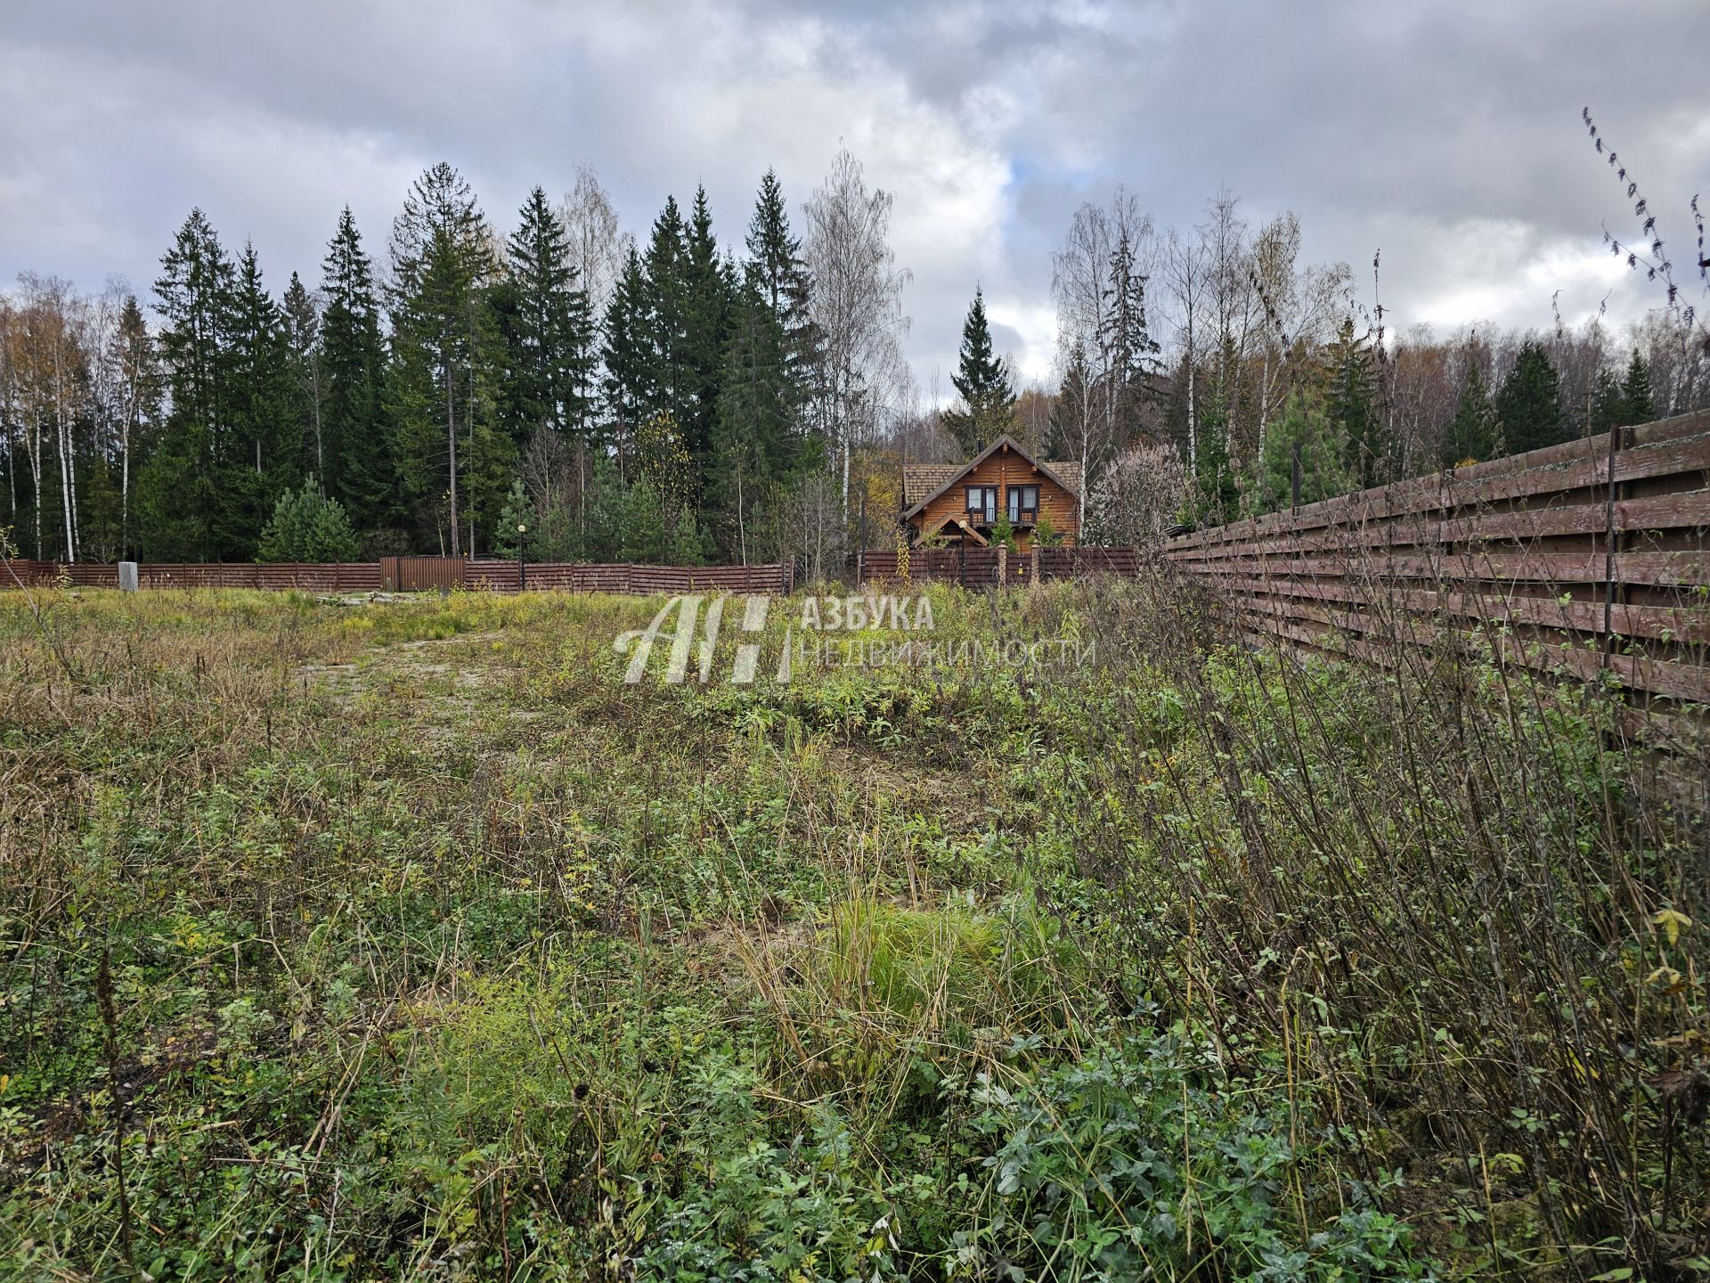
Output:
M592 409L585 387L593 368L593 320L564 228L540 186L530 192L511 234L508 284L511 435L522 441L545 429L580 440Z

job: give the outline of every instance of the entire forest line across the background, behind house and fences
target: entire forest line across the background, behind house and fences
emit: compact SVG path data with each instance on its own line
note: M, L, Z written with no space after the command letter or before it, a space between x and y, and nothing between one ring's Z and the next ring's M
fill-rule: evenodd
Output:
M954 395L920 405L889 217L845 151L800 231L768 173L739 239L698 190L636 241L585 169L501 234L436 164L383 253L345 209L320 279L274 296L192 210L147 304L31 274L0 296L0 529L60 559L829 570L894 541L903 465L1005 433L1077 460L1082 537L1127 544L1286 506L1296 469L1310 503L1710 405L1689 308L1397 335L1377 258L1356 287L1293 214L1255 229L1221 192L1158 228L1123 188L1052 257L1052 385L1019 385L975 289Z

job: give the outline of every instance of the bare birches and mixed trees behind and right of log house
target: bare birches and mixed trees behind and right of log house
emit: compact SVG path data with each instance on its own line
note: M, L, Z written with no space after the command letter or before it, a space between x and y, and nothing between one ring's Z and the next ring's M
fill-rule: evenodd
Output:
M1057 387L1017 388L978 294L956 402L917 452L968 457L1011 433L1082 464L1089 541L1130 544L1440 467L1710 405L1710 340L1671 289L1628 334L1467 323L1400 335L1346 263L1301 262L1301 226L1253 229L1219 192L1190 229L1132 192L1082 205L1053 255Z

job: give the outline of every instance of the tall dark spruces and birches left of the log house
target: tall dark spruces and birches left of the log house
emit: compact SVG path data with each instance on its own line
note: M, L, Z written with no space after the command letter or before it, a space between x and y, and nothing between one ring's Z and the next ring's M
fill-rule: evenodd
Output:
M320 279L274 294L193 209L147 303L0 296L0 529L67 561L836 542L906 375L889 210L843 152L805 234L766 173L739 241L698 190L636 243L587 169L501 234L441 163L383 255L345 207Z

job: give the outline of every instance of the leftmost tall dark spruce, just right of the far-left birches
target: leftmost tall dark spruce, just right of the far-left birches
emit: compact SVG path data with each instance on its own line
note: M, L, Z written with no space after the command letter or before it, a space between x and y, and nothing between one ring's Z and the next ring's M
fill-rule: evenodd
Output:
M159 352L173 409L137 484L140 542L152 558L238 554L219 542L215 529L233 452L226 399L233 286L219 234L200 209L190 210L154 282L166 322Z

